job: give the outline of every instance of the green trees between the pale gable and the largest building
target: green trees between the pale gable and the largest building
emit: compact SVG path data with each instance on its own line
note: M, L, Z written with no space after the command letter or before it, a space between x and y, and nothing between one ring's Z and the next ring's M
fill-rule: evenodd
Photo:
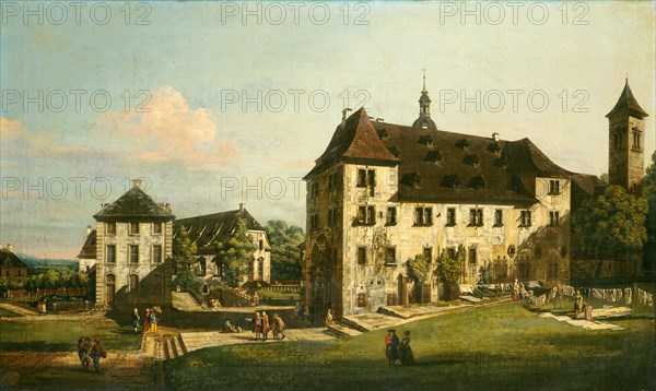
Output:
M303 251L298 245L305 240L303 228L288 225L282 220L271 220L265 227L271 245L271 277L274 280L300 280Z

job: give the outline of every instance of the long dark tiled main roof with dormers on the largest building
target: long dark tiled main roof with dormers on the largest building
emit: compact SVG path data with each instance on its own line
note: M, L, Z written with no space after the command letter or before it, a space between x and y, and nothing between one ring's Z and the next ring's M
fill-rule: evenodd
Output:
M399 152L397 199L529 205L536 176L569 177L528 139L491 138L375 122Z

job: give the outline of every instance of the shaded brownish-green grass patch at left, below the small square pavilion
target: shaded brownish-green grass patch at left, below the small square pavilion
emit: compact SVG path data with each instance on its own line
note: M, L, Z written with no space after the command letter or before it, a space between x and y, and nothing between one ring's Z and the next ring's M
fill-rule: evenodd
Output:
M75 352L78 339L99 336L109 351L138 351L141 335L128 325L107 319L47 320L0 322L0 352Z

